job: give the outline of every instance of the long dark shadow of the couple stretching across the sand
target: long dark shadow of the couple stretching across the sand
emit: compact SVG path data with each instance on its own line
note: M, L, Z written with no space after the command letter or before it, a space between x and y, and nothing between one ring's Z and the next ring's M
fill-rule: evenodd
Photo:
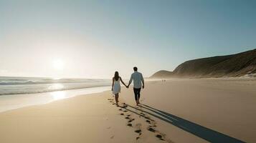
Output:
M131 107L131 106L128 105L128 107ZM219 142L235 142L235 143L243 142L240 139L235 139L234 137L229 137L226 134L222 134L220 132L214 131L207 127L202 127L199 124L189 122L186 119L182 119L181 117L176 117L173 114L163 112L161 110L150 107L146 104L143 104L140 107L142 107L143 109L138 109L135 107L132 107L132 108L151 114L153 117L157 117L158 119L168 122L169 124L173 124L174 126L179 127L180 129L183 129L186 132L190 132L191 134L194 134L197 137L205 139L208 142L218 142L218 143ZM152 113L147 111L151 111Z

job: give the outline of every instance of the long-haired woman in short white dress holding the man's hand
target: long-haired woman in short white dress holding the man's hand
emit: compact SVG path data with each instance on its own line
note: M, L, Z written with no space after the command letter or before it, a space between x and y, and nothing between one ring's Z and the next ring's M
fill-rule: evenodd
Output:
M123 82L122 78L119 77L118 71L115 71L115 76L113 77L113 82L112 82L112 92L113 94L115 94L115 103L116 106L118 106L118 94L121 91L121 86L120 86L120 81L122 82L122 84L127 87L125 85L125 83Z

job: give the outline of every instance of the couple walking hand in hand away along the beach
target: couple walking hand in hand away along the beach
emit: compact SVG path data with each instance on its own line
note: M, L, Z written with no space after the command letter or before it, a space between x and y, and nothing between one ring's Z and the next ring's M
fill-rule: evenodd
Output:
M115 94L115 102L116 106L118 106L118 96L121 90L120 87L120 82L126 87L129 88L131 82L133 82L133 92L134 92L134 97L136 100L136 104L140 104L140 97L141 97L141 87L144 88L144 79L143 76L140 72L138 72L138 68L135 66L133 67L133 74L131 74L131 78L129 81L129 84L126 85L122 78L119 77L118 71L115 71L115 76L113 77L113 82L112 82L112 92ZM142 85L141 85L142 83Z

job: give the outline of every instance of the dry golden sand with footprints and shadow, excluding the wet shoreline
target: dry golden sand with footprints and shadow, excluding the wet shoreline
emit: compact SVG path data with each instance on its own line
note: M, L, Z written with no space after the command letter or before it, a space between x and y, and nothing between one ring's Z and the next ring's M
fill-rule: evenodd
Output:
M0 142L256 142L256 81L146 82L137 107L130 87L0 113Z

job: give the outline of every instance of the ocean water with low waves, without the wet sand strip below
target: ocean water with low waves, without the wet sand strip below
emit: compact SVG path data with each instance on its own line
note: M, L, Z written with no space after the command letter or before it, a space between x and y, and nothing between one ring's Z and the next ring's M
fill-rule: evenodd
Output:
M39 77L0 77L0 96L35 94L70 89L108 87L110 79L51 79Z

